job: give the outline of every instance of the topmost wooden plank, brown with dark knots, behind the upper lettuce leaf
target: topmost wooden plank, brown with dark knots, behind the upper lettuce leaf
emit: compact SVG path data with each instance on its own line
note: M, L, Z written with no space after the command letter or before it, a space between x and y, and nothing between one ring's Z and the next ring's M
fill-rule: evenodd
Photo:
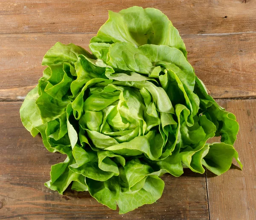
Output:
M97 32L108 10L134 5L160 9L181 34L256 31L252 0L5 0L0 2L0 32Z

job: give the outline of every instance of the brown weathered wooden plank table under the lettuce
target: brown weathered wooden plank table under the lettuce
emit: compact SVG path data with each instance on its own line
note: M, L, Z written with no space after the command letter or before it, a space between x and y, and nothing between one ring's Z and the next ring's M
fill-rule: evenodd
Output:
M157 203L128 214L88 192L64 195L44 187L51 165L39 136L20 122L19 108L42 75L41 60L56 41L88 49L108 10L154 7L179 30L189 62L210 94L237 116L235 144L244 170L221 176L163 177ZM256 219L256 1L247 0L2 0L0 1L0 219Z

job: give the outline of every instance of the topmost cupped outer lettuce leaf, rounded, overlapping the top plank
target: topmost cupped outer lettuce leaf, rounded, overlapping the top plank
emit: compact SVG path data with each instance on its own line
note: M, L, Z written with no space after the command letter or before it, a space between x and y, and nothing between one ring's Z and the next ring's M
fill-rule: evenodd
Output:
M109 11L108 21L90 43L129 42L134 46L156 44L172 46L186 56L186 47L168 17L157 9L138 6L119 13ZM90 47L92 50L92 47ZM92 50L94 53L94 51Z

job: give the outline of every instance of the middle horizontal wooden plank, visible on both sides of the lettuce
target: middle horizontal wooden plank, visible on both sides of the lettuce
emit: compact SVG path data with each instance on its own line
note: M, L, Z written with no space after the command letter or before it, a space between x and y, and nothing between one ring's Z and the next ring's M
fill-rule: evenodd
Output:
M0 35L0 100L23 100L37 84L41 60L56 41L88 49L94 34ZM256 33L237 35L182 35L188 59L215 98L256 95Z

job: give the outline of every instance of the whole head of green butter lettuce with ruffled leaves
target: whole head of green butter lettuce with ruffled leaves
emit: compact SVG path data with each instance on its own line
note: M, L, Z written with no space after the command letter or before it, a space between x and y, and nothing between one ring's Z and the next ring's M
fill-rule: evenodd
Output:
M67 155L47 187L62 194L72 184L122 214L158 200L165 173L203 174L204 165L220 175L233 157L242 168L236 117L207 94L166 15L110 11L89 47L56 43L20 108L32 136ZM214 136L221 143L207 144Z

